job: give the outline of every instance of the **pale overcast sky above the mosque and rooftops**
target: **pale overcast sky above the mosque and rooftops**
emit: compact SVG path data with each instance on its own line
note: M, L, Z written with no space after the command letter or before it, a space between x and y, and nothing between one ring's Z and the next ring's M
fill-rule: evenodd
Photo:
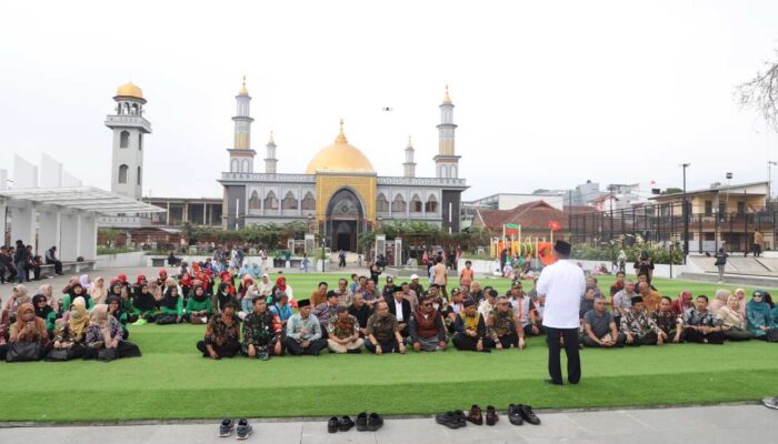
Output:
M303 173L345 120L379 175L433 176L445 85L463 199L586 180L767 180L778 135L736 100L778 59L776 1L23 1L0 7L0 168L60 160L110 189L116 88L148 100L144 195L220 198L235 95L255 171ZM391 108L391 111L383 111ZM774 171L778 176L778 171Z

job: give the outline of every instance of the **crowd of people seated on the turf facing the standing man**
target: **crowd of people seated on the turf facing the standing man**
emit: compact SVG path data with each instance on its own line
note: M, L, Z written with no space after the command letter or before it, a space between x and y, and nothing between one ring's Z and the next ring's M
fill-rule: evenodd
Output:
M545 295L535 287L525 291L522 281L515 280L501 294L482 286L467 262L449 289L442 258L433 262L429 278L415 274L396 282L386 276L380 287L381 270L371 264L366 275L340 278L333 286L322 281L299 300L282 272L271 280L258 264L228 269L217 261L181 262L174 271L162 269L132 282L124 274L108 284L103 278L73 276L57 294L51 285L41 285L30 295L17 284L2 304L0 357L18 342L37 343L34 359L138 356L140 350L128 341L129 326L149 322L205 325L197 350L215 360L318 355L325 349L377 355L450 346L521 350L527 337L545 333ZM597 276L587 278L579 346L778 341L778 309L764 290L755 290L750 300L742 289L722 289L712 299L685 291L674 300L659 293L648 272L639 272L637 281L624 272L616 278L610 297ZM112 351L101 354L106 349Z

